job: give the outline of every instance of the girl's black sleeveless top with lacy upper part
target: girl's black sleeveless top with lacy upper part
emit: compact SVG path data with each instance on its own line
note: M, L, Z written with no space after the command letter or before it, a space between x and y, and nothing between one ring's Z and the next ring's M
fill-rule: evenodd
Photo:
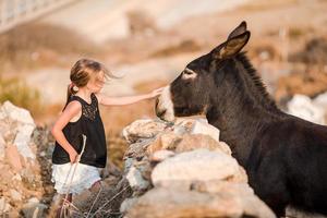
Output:
M107 160L106 136L100 117L97 97L90 95L92 102L72 95L68 101L77 100L82 105L82 116L76 122L69 122L62 130L68 142L80 154L83 147L82 134L86 135L86 144L80 162L105 168ZM52 154L52 164L62 165L70 162L69 154L56 142Z

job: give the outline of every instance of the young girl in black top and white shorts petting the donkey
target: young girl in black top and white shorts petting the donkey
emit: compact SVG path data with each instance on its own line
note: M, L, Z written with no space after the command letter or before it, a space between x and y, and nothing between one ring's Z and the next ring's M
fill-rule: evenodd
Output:
M71 70L66 104L51 130L56 138L52 154L52 181L62 199L69 192L64 201L71 202L72 194L100 185L98 168L106 166L107 146L98 104L129 105L154 98L161 93L159 88L146 95L108 97L99 93L108 76L111 75L102 64L88 59L78 60ZM74 162L82 152L83 134L86 136L85 149L78 157L78 166L74 166L77 165ZM74 173L73 166L76 167Z

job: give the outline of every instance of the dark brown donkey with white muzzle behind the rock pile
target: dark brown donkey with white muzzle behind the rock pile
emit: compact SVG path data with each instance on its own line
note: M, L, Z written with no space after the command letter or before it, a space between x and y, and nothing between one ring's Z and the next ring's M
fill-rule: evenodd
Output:
M157 116L206 116L277 216L286 207L327 215L327 128L282 112L241 52L242 22L228 39L192 62L156 102Z

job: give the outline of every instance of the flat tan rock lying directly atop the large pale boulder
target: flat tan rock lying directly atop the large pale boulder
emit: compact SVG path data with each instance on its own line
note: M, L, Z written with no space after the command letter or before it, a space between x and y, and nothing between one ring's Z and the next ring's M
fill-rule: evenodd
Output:
M189 152L197 148L207 148L209 150L220 149L227 155L231 155L230 147L222 142L217 142L209 135L204 134L184 134L175 147L177 153Z

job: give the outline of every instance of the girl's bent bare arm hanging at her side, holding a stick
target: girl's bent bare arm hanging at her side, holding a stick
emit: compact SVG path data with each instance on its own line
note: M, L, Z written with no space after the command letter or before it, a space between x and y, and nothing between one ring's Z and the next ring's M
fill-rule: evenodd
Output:
M63 135L62 129L70 122L70 120L76 117L82 111L82 106L77 101L70 102L66 108L62 111L59 119L55 123L51 133L56 141L61 147L70 155L71 162L74 162L77 156L77 152L74 147L66 141Z

